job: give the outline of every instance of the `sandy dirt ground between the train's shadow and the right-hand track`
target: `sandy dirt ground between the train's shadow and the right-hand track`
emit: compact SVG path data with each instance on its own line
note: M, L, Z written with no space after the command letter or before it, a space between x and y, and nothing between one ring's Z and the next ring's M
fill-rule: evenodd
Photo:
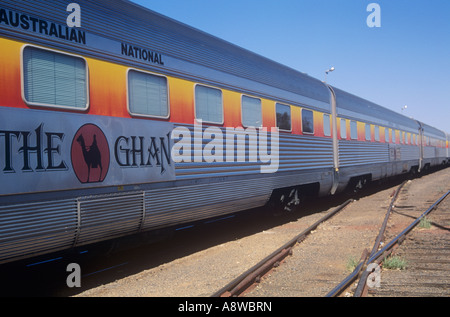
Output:
M324 296L350 272L350 259L359 260L364 249L372 250L379 227L397 184L362 197L320 225L292 256L271 271L246 294L251 297ZM398 204L415 206L394 214L388 223L389 236L411 222L409 216L423 212L430 201L450 189L450 168L409 181ZM80 297L205 297L210 296L279 246L313 224L327 210L299 217L233 241L213 245L173 261L104 284ZM232 228L230 228L232 230ZM206 238L206 237L205 237Z

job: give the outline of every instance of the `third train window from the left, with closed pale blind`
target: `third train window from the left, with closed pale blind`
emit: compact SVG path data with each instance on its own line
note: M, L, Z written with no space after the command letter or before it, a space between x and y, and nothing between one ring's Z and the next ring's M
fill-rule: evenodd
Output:
M223 123L223 100L220 89L195 86L195 118L209 123Z

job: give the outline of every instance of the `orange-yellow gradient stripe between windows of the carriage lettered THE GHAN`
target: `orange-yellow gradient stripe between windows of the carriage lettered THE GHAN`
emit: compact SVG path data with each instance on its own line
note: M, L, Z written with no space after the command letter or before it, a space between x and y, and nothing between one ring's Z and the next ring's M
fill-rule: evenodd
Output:
M0 105L27 108L21 96L21 48L26 43L0 38ZM69 52L67 52L69 53ZM129 67L94 58L86 58L89 68L89 109L87 114L129 118L127 108L127 71ZM170 122L194 124L194 83L167 77L169 85ZM222 90L224 126L241 127L241 93ZM263 127L276 127L275 102L261 98ZM78 112L76 110L57 111ZM291 106L292 134L302 134L301 108ZM155 119L153 119L155 120ZM164 119L156 119L164 120ZM314 111L314 131L324 136L323 113ZM348 127L348 137L350 131Z

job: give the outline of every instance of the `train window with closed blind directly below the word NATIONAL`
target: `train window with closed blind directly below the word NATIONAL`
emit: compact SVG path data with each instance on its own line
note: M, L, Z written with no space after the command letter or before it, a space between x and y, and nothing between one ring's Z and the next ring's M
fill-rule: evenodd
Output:
M133 115L169 117L167 78L130 69L128 110Z

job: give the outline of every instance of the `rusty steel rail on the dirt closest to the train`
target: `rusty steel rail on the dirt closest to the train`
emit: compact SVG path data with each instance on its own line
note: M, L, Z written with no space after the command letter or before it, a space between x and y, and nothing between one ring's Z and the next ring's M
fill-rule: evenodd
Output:
M245 271L243 274L235 278L233 281L228 283L222 289L211 295L211 297L234 297L239 296L244 290L246 290L250 285L258 281L265 273L271 270L274 266L280 263L280 261L291 254L292 248L295 244L302 242L314 229L316 229L322 222L328 220L339 211L344 209L353 199L345 201L340 206L336 207L333 211L316 221L313 225L305 229L302 233L294 237L292 240L285 243L283 246L278 248L275 252L265 257L259 263Z

